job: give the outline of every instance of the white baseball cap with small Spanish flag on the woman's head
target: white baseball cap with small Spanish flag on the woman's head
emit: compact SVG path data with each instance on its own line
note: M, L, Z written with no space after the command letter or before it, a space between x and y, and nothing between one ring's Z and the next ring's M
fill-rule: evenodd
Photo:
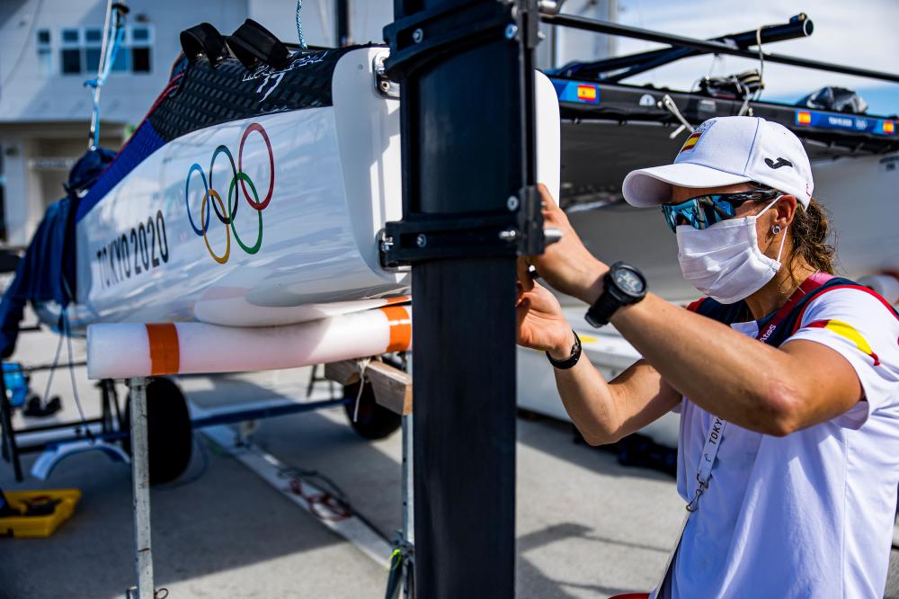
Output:
M755 181L812 200L814 182L806 149L783 125L759 117L716 117L699 125L673 165L631 171L621 186L624 199L644 208L671 201L672 185L719 187Z

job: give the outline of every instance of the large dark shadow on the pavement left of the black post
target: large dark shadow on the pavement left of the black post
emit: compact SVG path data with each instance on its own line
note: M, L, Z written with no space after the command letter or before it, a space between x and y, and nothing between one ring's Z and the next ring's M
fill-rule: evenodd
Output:
M242 399L277 397L271 390L245 381L227 380L225 386L228 395L236 393ZM213 403L221 391L217 385L198 399ZM334 453L335 459L352 455L353 462L365 463L369 469L396 470L396 486L386 489L384 495L399 488L396 461L372 448L348 426L312 413L286 416L271 424L276 424L272 428L278 431L273 434L286 434L296 442L294 455L304 451ZM298 554L302 554L301 559L290 561L289 577L294 580L288 586L294 590L302 586L305 577L333 577L335 597L369 596L365 577L354 580L356 577L346 575L354 568L386 581L383 568L279 496L239 462L214 450L207 453L209 464L201 478L180 487L155 487L152 492L157 586L227 571L256 572L265 577L265 567L257 572L254 566L277 564L284 557ZM186 478L197 474L200 462L200 452L194 451ZM23 465L30 468L31 459ZM338 470L337 474L343 473ZM0 468L0 487L77 487L84 494L75 516L51 539L0 540L0 597L124 596L134 581L128 466L112 463L102 455L83 454L61 464L48 481L29 478L21 485L13 483L11 469L4 466ZM394 508L398 514L398 497ZM335 555L337 548L342 548L345 555ZM280 577L286 578L284 573ZM272 588L270 582L260 579L259 586ZM228 596L227 591L218 596ZM298 595L285 591L268 596Z

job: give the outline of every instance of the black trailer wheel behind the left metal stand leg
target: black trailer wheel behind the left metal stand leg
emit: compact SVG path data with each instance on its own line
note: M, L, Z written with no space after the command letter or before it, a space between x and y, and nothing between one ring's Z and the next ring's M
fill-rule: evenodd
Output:
M131 398L125 404L122 431L131 427ZM150 484L159 485L180 477L191 463L193 429L187 400L170 379L147 383L147 441L149 443ZM131 454L131 438L122 439L122 448Z

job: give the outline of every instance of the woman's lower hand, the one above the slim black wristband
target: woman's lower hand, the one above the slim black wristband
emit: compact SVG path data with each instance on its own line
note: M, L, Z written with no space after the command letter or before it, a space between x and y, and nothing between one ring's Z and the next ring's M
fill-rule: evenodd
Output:
M518 344L563 360L571 353L574 333L562 315L556 296L538 282L532 285L529 291L519 288Z

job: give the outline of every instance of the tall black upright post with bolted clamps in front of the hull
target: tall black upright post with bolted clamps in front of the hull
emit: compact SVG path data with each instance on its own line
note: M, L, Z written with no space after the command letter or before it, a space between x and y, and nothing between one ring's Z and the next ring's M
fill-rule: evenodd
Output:
M543 251L534 189L536 0L395 0L403 220L413 264L415 586L515 594L515 258Z

